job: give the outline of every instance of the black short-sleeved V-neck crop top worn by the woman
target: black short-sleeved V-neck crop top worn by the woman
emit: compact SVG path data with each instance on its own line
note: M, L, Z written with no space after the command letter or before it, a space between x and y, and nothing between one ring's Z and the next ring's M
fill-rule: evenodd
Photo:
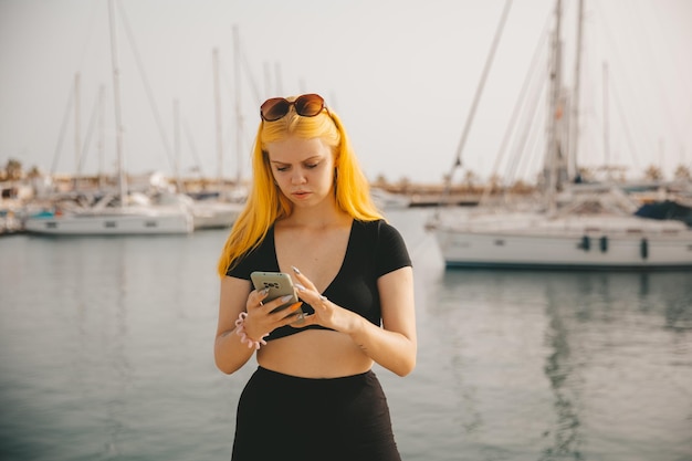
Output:
M384 220L354 220L342 268L323 294L335 304L353 311L379 326L381 308L377 279L410 265L411 260L406 243L394 227ZM241 256L238 264L230 269L227 275L250 280L250 273L253 271L279 271L273 226L260 247ZM303 304L303 311L306 314L315 312L307 303ZM304 329L329 328L321 325L294 328L286 325L274 329L265 339L277 339Z

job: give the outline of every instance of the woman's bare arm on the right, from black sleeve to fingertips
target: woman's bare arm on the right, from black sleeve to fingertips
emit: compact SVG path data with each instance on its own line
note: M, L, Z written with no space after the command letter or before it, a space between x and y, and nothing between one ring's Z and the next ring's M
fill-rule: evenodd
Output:
M306 324L319 324L345 333L377 364L406 376L416 367L417 336L413 300L413 271L410 266L382 275L377 281L382 327L363 316L321 298L312 282L296 272L306 290L298 295L315 308Z

